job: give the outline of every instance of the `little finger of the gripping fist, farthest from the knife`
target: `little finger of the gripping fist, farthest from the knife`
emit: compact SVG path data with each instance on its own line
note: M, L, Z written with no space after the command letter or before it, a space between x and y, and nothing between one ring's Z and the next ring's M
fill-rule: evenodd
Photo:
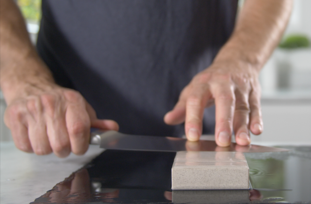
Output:
M28 129L23 122L24 116L19 109L19 106L8 106L4 112L4 123L11 130L15 146L21 151L32 153Z

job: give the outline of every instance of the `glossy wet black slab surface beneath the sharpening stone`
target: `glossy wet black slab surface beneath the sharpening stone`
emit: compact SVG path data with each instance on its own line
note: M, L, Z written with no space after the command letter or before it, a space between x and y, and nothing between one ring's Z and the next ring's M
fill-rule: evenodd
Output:
M249 190L173 192L174 152L106 150L31 204L311 203L311 147L282 148L292 151L245 153Z

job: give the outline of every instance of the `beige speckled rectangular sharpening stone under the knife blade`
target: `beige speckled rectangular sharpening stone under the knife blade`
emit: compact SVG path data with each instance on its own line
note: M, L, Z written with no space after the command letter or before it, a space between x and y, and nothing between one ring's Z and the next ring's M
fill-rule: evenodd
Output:
M172 190L248 189L242 152L179 151L172 166Z

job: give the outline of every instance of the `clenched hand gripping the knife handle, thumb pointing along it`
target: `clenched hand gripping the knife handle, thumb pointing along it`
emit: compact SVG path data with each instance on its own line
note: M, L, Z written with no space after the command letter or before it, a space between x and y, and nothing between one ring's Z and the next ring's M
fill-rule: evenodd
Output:
M118 131L116 122L97 119L79 92L53 83L40 87L25 84L19 97L8 104L4 122L18 149L37 155L53 151L59 157L71 151L84 154L90 127Z

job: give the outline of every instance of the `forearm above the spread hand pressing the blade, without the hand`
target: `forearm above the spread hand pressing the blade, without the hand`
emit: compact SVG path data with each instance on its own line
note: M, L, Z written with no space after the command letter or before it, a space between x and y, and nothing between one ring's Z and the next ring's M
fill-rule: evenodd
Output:
M259 71L279 43L291 8L291 0L246 0L234 32L215 62L238 59Z

